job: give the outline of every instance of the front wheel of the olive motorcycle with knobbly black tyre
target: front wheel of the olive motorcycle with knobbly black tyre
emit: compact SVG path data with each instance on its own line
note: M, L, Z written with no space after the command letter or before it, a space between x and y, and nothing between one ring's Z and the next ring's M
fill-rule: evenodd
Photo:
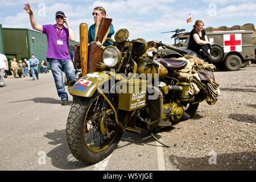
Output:
M118 104L115 97L109 99L114 106ZM123 134L114 119L113 110L101 94L95 93L90 98L77 97L69 111L66 128L73 156L82 162L95 164L112 154Z

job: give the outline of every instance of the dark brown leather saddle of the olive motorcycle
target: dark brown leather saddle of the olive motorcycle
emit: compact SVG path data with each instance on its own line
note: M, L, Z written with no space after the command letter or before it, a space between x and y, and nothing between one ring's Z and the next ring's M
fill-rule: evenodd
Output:
M174 70L183 69L188 64L187 61L184 61L184 60L167 59L167 58L160 58L156 60L167 69L174 69Z

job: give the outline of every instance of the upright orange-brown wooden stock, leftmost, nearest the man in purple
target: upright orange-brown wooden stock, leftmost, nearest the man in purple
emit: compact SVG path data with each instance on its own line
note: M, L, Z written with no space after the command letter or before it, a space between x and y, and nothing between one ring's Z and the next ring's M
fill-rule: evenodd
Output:
M80 59L82 76L87 74L88 65L88 24L80 24Z

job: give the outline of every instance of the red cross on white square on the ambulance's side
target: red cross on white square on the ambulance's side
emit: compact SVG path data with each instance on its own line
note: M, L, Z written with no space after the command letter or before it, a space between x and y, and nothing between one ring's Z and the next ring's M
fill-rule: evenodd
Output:
M230 46L230 51L240 52L242 46L241 34L224 35L224 47ZM229 52L229 51L228 51Z

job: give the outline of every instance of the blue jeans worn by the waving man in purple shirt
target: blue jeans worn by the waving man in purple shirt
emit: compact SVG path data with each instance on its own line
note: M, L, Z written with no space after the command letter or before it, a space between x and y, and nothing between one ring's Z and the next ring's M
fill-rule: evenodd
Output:
M58 96L61 98L61 101L68 100L68 94L65 92L62 72L65 73L68 81L75 80L76 75L73 62L71 60L50 59L49 66L52 71Z

